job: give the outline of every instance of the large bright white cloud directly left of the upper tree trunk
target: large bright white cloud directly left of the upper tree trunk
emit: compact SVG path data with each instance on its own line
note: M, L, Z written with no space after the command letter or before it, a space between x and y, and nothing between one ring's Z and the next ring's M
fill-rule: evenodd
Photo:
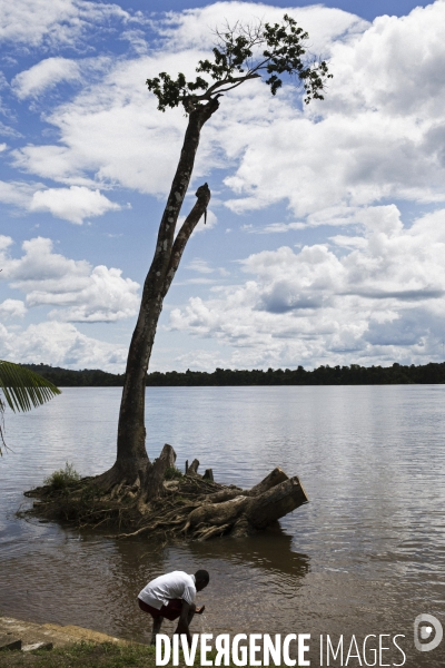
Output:
M196 58L186 53L181 60L182 68L188 62L191 68ZM99 84L48 115L60 131L60 143L24 146L13 151L14 165L70 185L106 183L165 194L187 121L179 109L157 111L141 72L144 77L172 67L177 67L172 55L117 61Z

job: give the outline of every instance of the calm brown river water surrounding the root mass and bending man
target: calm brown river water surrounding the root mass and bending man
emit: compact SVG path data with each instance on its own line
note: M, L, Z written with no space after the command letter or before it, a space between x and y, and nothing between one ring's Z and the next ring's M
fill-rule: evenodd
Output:
M329 665L352 667L373 665L363 639L376 636L372 648L383 636L390 649L377 666L445 666L445 640L414 647L418 615L445 627L445 386L148 389L150 458L170 443L180 468L197 456L219 482L246 488L276 465L300 477L309 504L263 534L161 547L18 519L22 492L67 460L82 474L112 464L119 401L119 389L73 387L7 413L0 613L147 642L138 591L162 572L205 568L196 632L310 633L312 666L320 636L336 646L343 635L344 659ZM359 658L346 662L353 636Z

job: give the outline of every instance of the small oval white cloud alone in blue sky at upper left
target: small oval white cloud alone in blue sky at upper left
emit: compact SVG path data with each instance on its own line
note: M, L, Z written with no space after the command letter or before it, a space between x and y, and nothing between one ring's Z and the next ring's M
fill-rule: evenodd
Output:
M68 58L47 58L12 80L12 89L20 99L38 97L61 81L78 80L79 65Z

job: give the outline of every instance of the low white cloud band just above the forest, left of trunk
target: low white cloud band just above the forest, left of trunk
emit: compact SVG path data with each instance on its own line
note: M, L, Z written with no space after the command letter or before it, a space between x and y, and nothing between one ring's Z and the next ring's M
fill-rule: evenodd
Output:
M12 362L121 373L127 353L126 347L86 336L68 323L46 322L20 332L0 325L0 357Z

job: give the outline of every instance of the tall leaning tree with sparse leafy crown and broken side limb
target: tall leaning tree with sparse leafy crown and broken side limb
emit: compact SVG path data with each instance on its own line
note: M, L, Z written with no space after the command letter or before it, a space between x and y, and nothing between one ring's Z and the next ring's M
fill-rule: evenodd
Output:
M299 85L306 104L313 99L322 100L326 79L332 75L328 73L325 60L308 52L307 40L308 33L288 14L285 14L281 23L259 23L255 27L237 23L233 28L227 26L224 30L216 31L212 59L198 62L198 76L194 81L187 81L182 73L172 79L166 72L147 79L148 89L158 99L158 109L165 111L167 107L182 106L188 124L128 353L119 413L117 459L109 471L96 479L96 483L103 490L117 484L132 484L139 478L140 483L144 482L155 493L159 489L160 473L171 456L171 453L162 451L162 455L152 464L147 455L146 376L164 298L187 242L199 219L206 215L210 200L208 185L199 186L195 206L175 234L190 184L202 126L218 110L221 96L254 79L263 79L275 96L284 78L289 77Z

